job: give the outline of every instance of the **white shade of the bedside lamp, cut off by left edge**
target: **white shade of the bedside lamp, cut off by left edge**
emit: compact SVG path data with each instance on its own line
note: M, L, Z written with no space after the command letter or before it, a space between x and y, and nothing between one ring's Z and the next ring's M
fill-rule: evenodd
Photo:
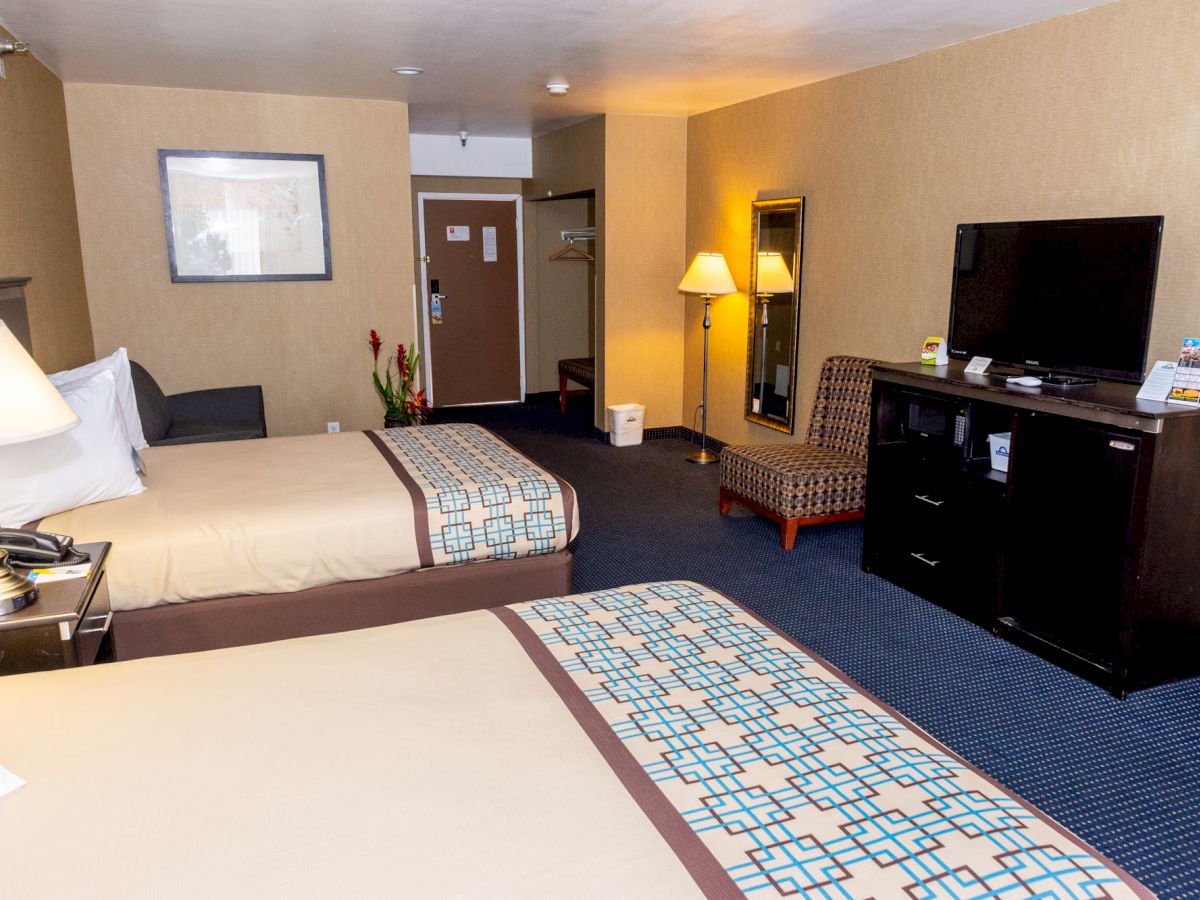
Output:
M78 424L79 416L0 322L0 444L46 438Z

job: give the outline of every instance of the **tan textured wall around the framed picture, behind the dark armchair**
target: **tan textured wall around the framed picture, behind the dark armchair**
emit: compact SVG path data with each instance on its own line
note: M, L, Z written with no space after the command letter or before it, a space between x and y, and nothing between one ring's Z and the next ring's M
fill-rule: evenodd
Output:
M413 338L408 107L67 84L96 350L168 394L262 384L272 434L378 427L367 330ZM173 284L160 149L324 154L332 281Z

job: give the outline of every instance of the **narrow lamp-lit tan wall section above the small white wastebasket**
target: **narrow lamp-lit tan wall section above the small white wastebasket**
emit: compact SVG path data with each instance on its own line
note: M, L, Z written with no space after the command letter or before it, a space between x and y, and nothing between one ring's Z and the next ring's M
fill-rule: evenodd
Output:
M606 116L605 395L644 403L648 428L683 424L686 169L685 119Z

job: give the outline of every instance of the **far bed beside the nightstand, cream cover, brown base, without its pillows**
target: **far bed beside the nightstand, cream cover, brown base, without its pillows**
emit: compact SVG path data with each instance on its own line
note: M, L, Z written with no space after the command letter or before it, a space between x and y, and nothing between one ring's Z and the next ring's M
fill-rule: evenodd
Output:
M571 588L574 490L476 425L154 446L142 456L144 493L38 526L80 544L112 541L119 659Z

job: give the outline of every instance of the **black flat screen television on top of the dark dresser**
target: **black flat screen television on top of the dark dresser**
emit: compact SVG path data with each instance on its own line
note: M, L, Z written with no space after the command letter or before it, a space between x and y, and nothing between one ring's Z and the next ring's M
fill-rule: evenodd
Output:
M1162 216L960 224L950 355L1141 382Z

